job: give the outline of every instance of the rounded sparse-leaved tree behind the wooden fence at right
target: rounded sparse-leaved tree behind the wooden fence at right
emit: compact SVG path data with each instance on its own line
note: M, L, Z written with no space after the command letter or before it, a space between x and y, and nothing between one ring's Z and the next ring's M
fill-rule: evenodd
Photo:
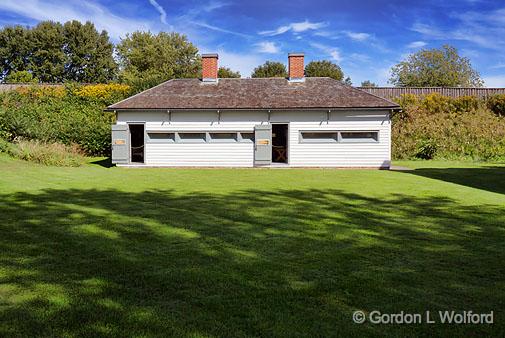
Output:
M398 87L482 87L480 74L456 48L423 49L391 68L389 82Z

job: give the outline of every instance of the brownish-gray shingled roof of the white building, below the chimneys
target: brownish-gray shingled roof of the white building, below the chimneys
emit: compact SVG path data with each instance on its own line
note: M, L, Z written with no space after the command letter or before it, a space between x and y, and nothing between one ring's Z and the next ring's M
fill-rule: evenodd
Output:
M120 109L398 108L394 102L326 77L174 79L109 106Z

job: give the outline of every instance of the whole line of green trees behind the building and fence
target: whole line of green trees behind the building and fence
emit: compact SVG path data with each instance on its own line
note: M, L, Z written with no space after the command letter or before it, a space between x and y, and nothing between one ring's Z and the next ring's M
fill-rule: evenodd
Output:
M106 31L93 23L42 21L34 27L7 26L0 30L2 82L80 82L129 84L135 91L171 78L201 74L198 48L179 33L134 32L114 45ZM327 76L351 85L341 67L329 60L309 62L305 75ZM241 74L227 67L220 78ZM267 61L251 77L286 77L283 63ZM480 87L483 82L470 60L449 45L423 49L391 69L389 82L401 87ZM375 83L364 81L362 86Z

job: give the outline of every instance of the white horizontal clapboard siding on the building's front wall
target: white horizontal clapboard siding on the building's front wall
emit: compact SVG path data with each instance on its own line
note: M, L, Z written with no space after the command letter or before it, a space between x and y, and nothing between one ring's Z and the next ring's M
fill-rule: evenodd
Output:
M290 166L381 167L390 163L387 112L272 112L270 122L289 123ZM144 122L146 131L253 131L268 123L267 112L119 112L118 124ZM304 130L378 130L377 143L300 143ZM252 143L149 143L145 162L160 166L251 167Z

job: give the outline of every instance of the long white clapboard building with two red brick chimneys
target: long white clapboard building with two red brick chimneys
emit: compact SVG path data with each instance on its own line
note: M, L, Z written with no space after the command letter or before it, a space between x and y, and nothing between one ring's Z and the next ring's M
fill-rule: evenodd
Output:
M289 54L288 78L173 79L107 109L118 166L389 168L391 114L399 106L325 77L305 77Z

